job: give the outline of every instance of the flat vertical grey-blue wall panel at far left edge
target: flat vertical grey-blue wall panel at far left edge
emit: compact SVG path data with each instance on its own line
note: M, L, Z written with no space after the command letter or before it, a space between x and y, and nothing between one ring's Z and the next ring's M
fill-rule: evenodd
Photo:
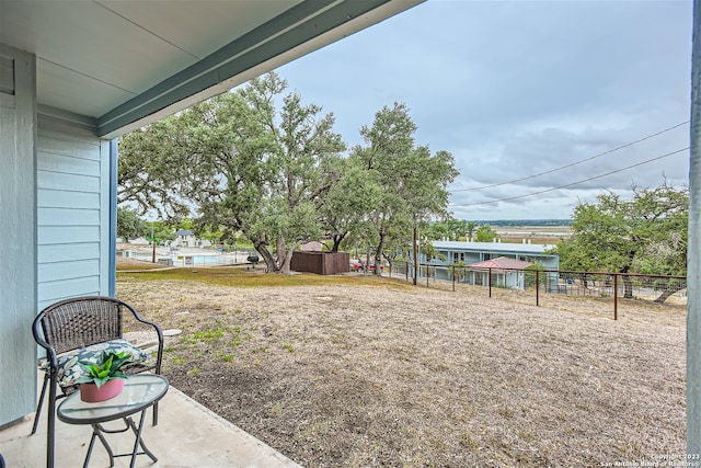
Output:
M36 57L0 44L0 426L34 411Z

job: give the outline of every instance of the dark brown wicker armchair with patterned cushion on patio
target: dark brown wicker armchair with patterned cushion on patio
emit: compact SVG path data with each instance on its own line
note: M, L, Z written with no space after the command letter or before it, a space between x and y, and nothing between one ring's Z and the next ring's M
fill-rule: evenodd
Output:
M125 322L128 322L130 328L145 328L158 336L156 356L149 356L145 361L123 367L125 373L138 374L150 370L160 374L163 356L163 333L160 327L142 319L134 307L122 300L103 296L67 299L45 308L34 319L32 327L34 340L46 350L46 364L43 367L44 386L36 408L32 434L36 432L48 387L47 467L54 466L56 400L70 395L78 388L71 381L73 376L59 375L66 372L61 366L74 363L76 357L84 358L85 353L97 353L100 352L97 350L112 346L114 343L118 343L119 346L131 346L135 353L141 353L124 340ZM58 396L57 389L61 390ZM157 424L158 403L153 406L153 425Z

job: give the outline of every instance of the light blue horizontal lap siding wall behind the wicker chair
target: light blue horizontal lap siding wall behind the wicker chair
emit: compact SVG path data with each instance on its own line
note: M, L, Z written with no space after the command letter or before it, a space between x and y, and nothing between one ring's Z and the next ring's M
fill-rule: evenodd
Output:
M37 152L38 308L108 294L108 144L39 118Z

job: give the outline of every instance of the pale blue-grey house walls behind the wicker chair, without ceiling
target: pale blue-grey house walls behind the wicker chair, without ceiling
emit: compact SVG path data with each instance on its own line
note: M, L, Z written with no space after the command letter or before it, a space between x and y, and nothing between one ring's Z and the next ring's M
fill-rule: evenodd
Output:
M36 406L36 313L114 290L116 150L84 123L37 117L34 55L0 44L0 60L2 426Z

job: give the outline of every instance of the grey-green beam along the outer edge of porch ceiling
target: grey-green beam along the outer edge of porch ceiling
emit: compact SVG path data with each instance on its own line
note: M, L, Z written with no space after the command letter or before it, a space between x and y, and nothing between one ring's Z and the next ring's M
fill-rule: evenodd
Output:
M114 138L225 92L424 0L308 0L97 118Z

